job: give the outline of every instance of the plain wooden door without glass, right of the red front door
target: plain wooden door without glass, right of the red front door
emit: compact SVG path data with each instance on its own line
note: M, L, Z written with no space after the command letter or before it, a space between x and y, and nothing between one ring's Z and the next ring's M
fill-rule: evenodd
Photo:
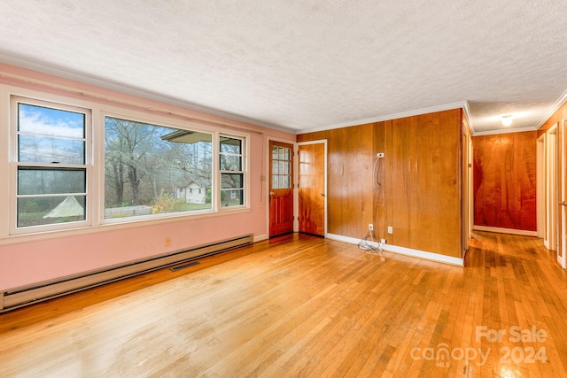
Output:
M299 145L299 232L325 235L325 145Z

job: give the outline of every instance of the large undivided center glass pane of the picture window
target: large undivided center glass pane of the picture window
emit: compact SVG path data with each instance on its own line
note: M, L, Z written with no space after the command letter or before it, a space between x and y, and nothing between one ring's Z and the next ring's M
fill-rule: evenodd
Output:
M105 220L210 211L212 146L200 131L105 117Z

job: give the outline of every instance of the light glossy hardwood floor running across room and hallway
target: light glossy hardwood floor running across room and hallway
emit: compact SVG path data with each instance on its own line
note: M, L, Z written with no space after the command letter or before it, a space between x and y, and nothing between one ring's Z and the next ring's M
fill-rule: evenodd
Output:
M471 245L462 268L285 235L5 312L0 376L567 376L555 254Z

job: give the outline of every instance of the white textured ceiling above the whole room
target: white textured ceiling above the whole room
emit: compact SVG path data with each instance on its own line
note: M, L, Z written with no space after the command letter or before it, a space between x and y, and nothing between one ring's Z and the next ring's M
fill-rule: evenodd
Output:
M2 0L0 61L293 132L564 100L562 1ZM509 127L510 128L510 127ZM509 129L507 128L507 130Z

